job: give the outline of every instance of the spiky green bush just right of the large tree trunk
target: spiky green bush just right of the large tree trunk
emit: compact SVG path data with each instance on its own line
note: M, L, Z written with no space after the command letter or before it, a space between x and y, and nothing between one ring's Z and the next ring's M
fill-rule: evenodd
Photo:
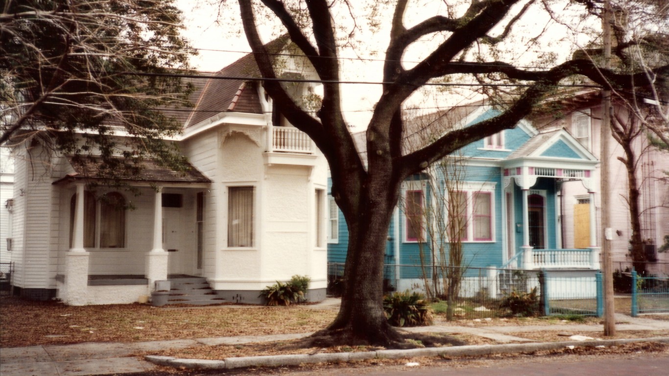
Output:
M432 309L422 294L394 292L383 297L385 317L392 326L424 326L432 324Z

